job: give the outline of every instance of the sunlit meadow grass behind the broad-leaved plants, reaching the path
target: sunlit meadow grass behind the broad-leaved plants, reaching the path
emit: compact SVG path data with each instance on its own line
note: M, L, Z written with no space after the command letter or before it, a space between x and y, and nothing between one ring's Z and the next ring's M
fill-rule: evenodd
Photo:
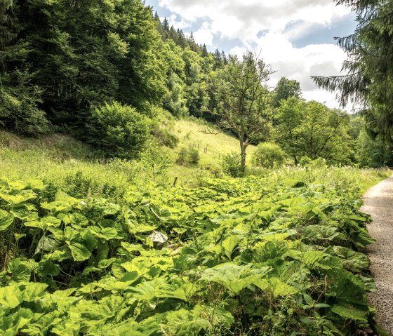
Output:
M220 159L232 151L239 152L239 141L225 133L206 134L206 124L194 120L167 119L166 128L176 135L180 142L175 149L168 149L172 161L168 173L159 180L177 186L198 187L206 177L222 177ZM194 166L175 164L181 147L198 149L200 161ZM204 149L207 149L206 152ZM248 162L255 147L248 147ZM317 172L317 173L316 173ZM346 183L357 184L364 194L369 187L392 174L390 170L359 170L356 168L302 169L283 168L257 170L258 175L275 175L277 179L304 177L304 180L331 180L335 174L345 175ZM151 183L148 168L140 163L126 161L107 162L93 156L93 149L67 135L53 134L39 139L18 137L0 132L0 176L22 180L38 178L50 181L56 187L67 188L67 183L86 184L95 194L102 189L116 190L114 195L121 197L128 185L143 190ZM334 180L334 179L333 179ZM91 187L93 185L93 187ZM89 187L90 186L90 187ZM76 188L76 185L75 185ZM93 192L92 191L92 192ZM108 191L108 194L109 194Z

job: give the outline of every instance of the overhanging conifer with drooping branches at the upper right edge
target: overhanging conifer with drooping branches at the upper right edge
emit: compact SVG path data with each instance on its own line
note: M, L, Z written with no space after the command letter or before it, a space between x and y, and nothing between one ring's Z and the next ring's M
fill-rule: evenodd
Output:
M385 140L393 140L393 1L339 0L357 13L354 34L338 39L348 54L343 76L315 76L318 86L338 91L343 106L361 106L366 128Z

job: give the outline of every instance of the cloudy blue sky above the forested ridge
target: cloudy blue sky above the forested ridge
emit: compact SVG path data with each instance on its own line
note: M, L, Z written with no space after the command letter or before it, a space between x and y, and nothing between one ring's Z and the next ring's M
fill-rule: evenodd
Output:
M310 76L340 74L345 53L335 36L356 27L355 15L333 0L145 0L209 51L242 55L252 51L276 71L269 86L282 76L300 82L303 97L339 107L335 93L314 85Z

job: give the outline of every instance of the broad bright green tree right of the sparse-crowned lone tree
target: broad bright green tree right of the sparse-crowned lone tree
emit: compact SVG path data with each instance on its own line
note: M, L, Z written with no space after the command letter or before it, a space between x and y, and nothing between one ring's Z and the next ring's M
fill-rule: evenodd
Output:
M349 114L346 112L291 97L281 100L275 123L275 140L293 158L295 165L302 156L322 157L331 164L350 162L351 139L347 134Z

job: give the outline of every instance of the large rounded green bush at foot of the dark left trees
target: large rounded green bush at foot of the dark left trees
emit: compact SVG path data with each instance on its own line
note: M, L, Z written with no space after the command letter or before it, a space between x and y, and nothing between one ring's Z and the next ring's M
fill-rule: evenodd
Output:
M93 110L87 142L106 157L138 158L149 139L151 119L133 107L112 102Z

